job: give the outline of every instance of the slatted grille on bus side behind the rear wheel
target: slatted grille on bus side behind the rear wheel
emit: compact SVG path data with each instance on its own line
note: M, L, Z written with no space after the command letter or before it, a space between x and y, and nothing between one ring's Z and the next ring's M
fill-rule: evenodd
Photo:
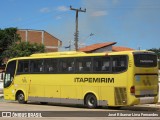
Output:
M127 92L124 87L115 87L115 105L126 105L127 104Z

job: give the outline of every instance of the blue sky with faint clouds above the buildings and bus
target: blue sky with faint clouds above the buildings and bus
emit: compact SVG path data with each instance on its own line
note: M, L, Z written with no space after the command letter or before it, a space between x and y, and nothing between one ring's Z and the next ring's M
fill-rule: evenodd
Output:
M0 29L45 30L74 49L75 11L79 47L117 42L133 49L160 48L160 0L0 0ZM91 35L92 34L92 35Z

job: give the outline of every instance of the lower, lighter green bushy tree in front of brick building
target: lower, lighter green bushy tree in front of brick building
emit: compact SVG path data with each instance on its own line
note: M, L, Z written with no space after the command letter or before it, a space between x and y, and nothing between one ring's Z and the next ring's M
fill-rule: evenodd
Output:
M2 53L2 59L29 56L33 53L42 53L45 47L42 44L31 44L29 42L14 43Z

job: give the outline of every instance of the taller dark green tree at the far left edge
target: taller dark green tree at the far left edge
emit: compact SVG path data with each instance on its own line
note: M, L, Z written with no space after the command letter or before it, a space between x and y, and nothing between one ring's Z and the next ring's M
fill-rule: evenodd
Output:
M2 51L6 50L8 46L20 41L20 37L17 34L17 28L0 29L0 48Z

